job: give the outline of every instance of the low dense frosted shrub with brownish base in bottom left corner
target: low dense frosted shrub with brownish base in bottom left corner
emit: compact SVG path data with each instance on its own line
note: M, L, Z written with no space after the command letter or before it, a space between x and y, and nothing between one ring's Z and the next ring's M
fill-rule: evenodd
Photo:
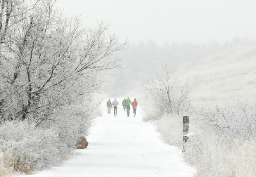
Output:
M43 130L26 122L5 122L0 126L0 169L21 171L51 167L62 157L55 131Z

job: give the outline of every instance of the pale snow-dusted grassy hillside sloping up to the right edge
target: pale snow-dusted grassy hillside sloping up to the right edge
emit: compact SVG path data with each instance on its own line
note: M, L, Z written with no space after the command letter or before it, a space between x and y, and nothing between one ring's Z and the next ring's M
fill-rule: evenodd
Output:
M188 67L184 78L193 82L194 105L255 96L256 46L234 48ZM181 73L182 74L182 73Z

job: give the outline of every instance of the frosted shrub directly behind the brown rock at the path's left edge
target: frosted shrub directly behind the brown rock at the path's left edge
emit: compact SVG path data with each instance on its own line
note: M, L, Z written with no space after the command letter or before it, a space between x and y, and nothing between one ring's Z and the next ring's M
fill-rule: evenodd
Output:
M58 109L56 109L58 111ZM88 135L88 129L92 123L93 109L86 103L81 105L74 105L63 113L59 113L55 119L46 120L40 124L43 129L53 129L58 134L58 146L61 150L62 156L72 154L76 148L75 144L78 138L82 135Z

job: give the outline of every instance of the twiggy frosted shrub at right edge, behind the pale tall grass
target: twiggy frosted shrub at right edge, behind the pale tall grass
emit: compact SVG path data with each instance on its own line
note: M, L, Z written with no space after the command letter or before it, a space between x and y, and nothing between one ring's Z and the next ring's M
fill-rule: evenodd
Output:
M231 137L249 137L256 140L256 103L254 100L239 101L237 106L215 105L196 111L200 129Z

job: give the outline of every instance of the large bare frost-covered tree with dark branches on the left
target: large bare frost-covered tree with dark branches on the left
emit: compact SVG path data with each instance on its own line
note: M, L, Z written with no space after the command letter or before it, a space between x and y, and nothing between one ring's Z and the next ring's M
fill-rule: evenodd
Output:
M68 109L90 106L101 71L123 48L108 25L82 26L53 8L55 0L0 0L0 120L40 125ZM89 111L89 110L87 110ZM81 111L79 111L81 113ZM84 115L87 116L87 115Z

